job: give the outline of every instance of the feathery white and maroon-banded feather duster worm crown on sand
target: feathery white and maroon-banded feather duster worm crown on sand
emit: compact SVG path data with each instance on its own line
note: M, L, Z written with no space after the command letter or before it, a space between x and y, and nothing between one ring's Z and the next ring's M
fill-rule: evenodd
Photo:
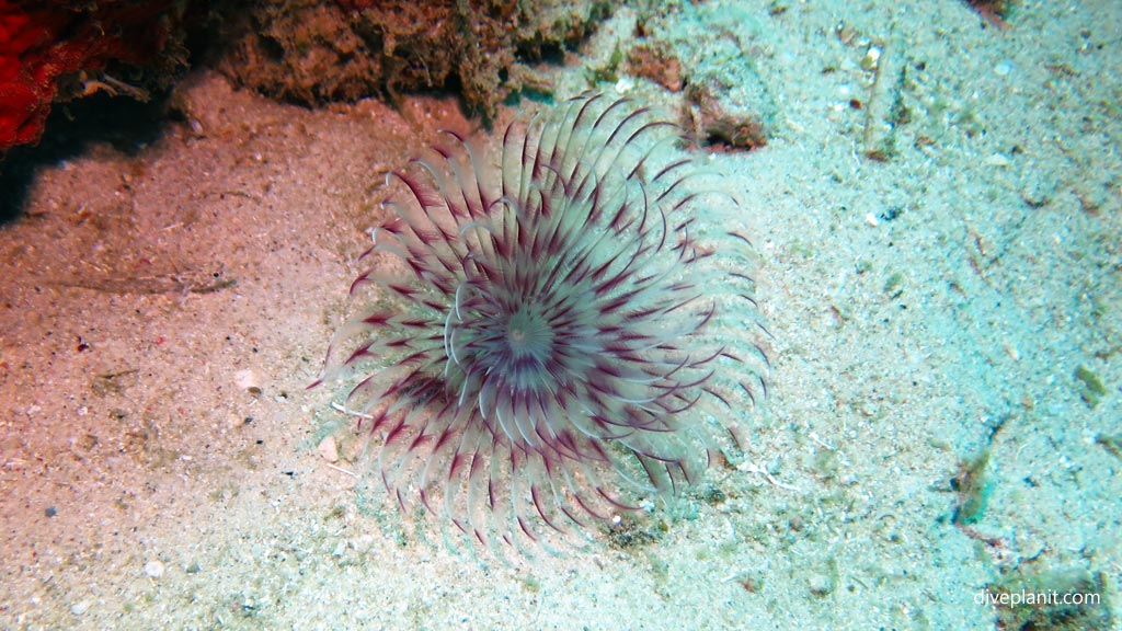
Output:
M679 129L628 100L521 115L490 162L447 134L389 175L404 194L351 286L379 300L320 379L370 371L348 406L390 495L490 545L696 481L709 426L764 387L746 239L703 248L691 214L735 202L698 192Z

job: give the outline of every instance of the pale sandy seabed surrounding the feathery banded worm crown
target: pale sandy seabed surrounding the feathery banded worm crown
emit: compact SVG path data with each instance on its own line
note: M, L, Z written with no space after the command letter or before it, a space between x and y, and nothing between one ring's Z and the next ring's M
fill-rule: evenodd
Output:
M744 56L687 63L751 64L774 104L766 147L710 158L774 338L741 420L758 469L714 470L720 501L508 563L403 527L349 473L346 391L305 386L383 174L475 124L200 71L186 120L43 167L0 229L0 629L993 629L1011 610L980 596L1018 576L1116 602L1122 3L1026 0L1004 29L950 0L784 8L714 0L670 39L723 17ZM981 454L985 505L956 524ZM1118 628L1112 606L1078 625Z

